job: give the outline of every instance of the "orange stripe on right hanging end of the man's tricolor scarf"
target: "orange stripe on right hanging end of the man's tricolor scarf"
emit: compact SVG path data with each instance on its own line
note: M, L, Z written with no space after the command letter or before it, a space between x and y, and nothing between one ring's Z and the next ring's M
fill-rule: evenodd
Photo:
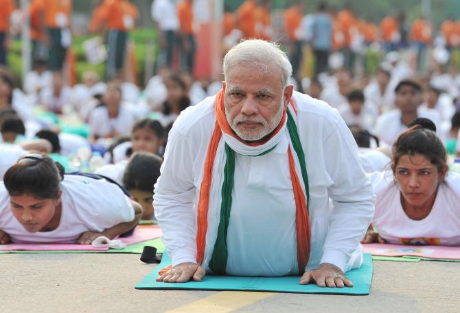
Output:
M307 202L305 193L295 171L294 157L290 148L288 148L289 156L289 173L292 181L292 190L294 190L295 199L295 230L297 232L297 266L299 266L299 274L305 271L310 258L310 218L308 217Z

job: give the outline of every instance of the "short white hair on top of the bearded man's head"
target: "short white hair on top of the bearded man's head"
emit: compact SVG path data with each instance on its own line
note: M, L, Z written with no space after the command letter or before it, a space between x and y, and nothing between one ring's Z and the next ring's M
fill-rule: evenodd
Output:
M270 64L277 64L283 74L281 76L283 88L288 86L289 78L292 75L292 65L286 53L279 49L279 45L265 40L242 40L227 52L222 66L225 82L227 82L230 69L239 64L257 66L262 68L264 72L268 71Z

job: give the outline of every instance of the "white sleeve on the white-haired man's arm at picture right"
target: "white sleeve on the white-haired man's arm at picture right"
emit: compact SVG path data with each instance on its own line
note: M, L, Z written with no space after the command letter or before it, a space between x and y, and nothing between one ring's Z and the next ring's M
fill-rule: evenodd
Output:
M351 255L371 223L375 196L360 166L356 142L343 120L337 118L324 127L324 162L333 181L327 191L334 208L321 263L348 271Z

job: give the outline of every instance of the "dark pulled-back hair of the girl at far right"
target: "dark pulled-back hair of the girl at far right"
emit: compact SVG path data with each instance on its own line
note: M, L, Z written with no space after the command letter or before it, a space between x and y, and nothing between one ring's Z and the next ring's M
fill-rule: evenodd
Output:
M438 173L442 173L447 167L444 145L433 130L426 129L422 125L414 125L407 129L393 144L393 160L391 160L393 173L403 155L415 154L424 155L431 164L437 166Z

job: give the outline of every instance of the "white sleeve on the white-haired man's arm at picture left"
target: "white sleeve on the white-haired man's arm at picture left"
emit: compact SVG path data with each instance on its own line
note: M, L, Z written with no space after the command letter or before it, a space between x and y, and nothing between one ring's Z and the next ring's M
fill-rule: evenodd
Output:
M193 179L194 152L190 138L172 127L161 175L154 185L155 217L163 231L163 242L172 265L196 263L196 217Z

